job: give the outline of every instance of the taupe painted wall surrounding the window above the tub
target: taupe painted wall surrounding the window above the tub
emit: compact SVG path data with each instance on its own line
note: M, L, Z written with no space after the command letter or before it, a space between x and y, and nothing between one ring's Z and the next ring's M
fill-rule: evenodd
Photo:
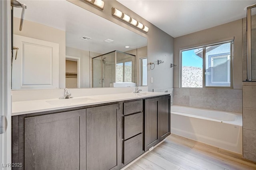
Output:
M180 48L192 48L200 45L232 40L234 37L233 87L242 89L242 19L215 26L174 38L174 88L179 88Z

